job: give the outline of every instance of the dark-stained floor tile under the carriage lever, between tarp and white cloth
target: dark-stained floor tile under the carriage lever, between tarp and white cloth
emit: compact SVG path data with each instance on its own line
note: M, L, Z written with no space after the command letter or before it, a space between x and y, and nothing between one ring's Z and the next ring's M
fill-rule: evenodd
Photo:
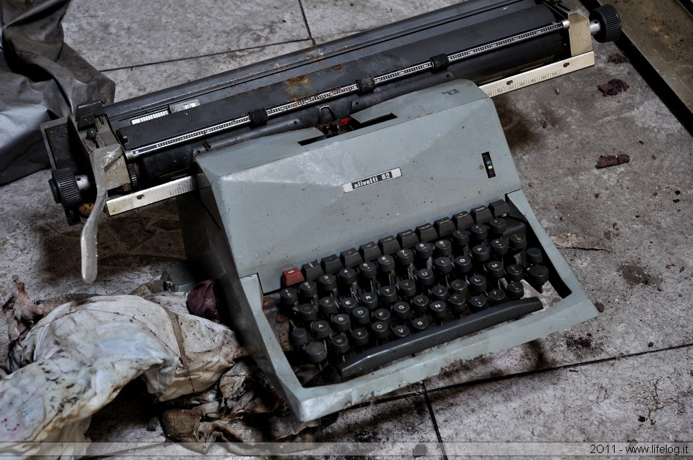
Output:
M33 300L62 294L128 294L159 279L185 252L175 202L168 200L114 218L98 229L98 281L80 277L81 225L69 227L42 170L3 186L0 193L0 299L15 294L12 277L26 283ZM26 199L31 191L31 199ZM7 211L4 211L7 210Z

